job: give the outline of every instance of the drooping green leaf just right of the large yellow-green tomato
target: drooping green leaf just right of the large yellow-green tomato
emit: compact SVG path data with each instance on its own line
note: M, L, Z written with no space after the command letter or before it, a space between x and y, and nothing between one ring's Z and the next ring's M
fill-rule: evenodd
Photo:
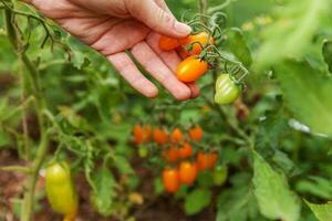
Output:
M92 192L92 202L95 209L103 215L108 217L112 213L114 198L114 178L111 171L102 167L93 176L95 191Z

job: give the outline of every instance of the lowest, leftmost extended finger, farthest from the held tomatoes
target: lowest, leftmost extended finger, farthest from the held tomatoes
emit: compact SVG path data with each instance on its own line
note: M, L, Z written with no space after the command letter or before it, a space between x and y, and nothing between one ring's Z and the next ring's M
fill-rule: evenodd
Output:
M139 72L126 53L116 53L107 59L120 74L144 96L156 97L158 95L158 88Z

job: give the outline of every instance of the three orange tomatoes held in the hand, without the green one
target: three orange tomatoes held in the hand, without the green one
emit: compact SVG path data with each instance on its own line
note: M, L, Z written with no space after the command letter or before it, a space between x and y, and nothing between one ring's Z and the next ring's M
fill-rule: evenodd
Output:
M184 59L177 66L176 76L185 83L195 82L207 72L209 65L204 52L210 50L214 44L214 38L204 31L184 39L165 35L159 39L159 48L163 51L176 50Z

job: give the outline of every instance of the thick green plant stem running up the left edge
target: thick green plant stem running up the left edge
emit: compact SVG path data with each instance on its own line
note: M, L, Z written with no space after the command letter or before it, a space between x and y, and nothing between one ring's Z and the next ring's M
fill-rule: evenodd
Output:
M27 80L29 80L29 83L31 84L32 93L35 98L35 112L40 128L40 144L37 150L37 155L34 156L34 159L32 161L31 173L28 176L28 180L25 183L23 209L21 213L21 221L31 221L33 213L35 183L39 176L39 170L44 161L49 146L49 136L46 131L45 117L43 115L43 110L45 109L45 103L40 87L39 71L29 60L29 57L25 54L25 51L22 50L24 44L23 42L21 42L22 38L20 35L19 30L17 30L13 25L15 20L10 9L4 10L4 20L9 41L12 44L15 53L18 54L21 64L24 66L24 70L27 70L27 72L24 73L27 74Z

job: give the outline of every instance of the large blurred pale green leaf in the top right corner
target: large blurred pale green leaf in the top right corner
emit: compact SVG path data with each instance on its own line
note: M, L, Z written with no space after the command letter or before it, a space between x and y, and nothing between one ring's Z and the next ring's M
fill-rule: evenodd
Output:
M290 56L301 56L313 35L328 21L330 0L289 0L279 7L277 21L263 31L257 66L266 67Z

